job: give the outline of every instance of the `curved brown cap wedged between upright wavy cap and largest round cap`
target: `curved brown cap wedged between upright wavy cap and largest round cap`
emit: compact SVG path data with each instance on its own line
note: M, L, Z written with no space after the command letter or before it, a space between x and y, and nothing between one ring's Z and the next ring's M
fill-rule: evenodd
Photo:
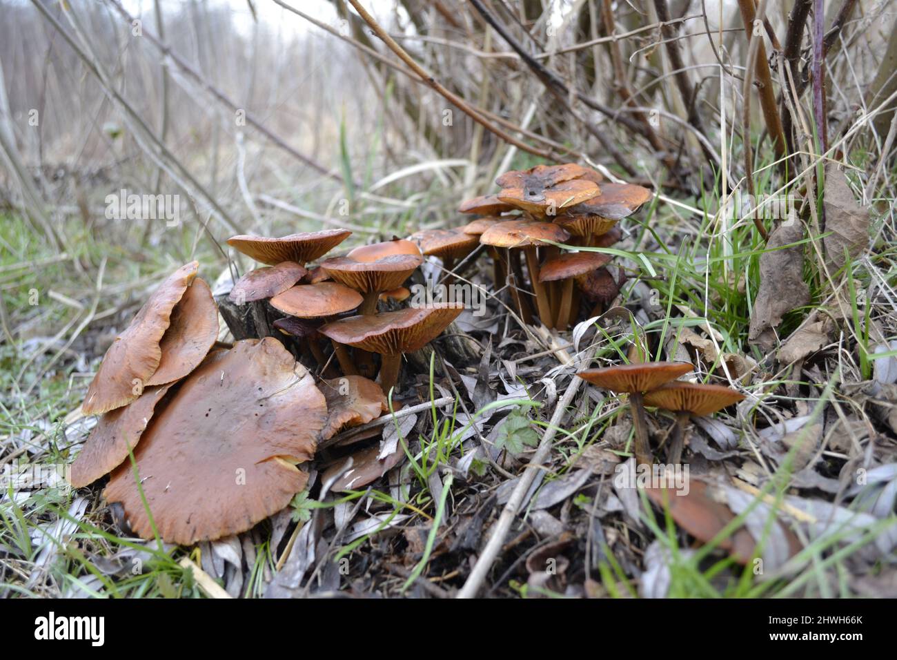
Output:
M196 369L218 339L218 305L205 281L196 277L171 312L162 335L159 368L145 385L174 383Z

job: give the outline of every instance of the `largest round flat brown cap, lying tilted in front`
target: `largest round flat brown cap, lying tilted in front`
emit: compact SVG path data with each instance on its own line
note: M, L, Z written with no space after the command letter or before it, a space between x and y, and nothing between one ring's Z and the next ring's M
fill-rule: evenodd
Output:
M161 538L190 545L245 532L282 510L308 475L327 418L308 370L274 338L238 341L210 355L152 419L136 467ZM152 538L130 461L104 491L131 528Z

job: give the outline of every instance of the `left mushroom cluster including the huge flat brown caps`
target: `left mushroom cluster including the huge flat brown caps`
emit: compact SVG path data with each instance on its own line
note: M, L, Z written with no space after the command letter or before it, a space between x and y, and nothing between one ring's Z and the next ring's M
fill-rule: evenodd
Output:
M100 418L72 464L73 486L109 475L103 495L134 532L180 544L247 531L288 506L306 487L302 465L318 444L386 412L403 353L462 310L394 309L423 261L414 242L365 245L309 266L349 235L231 238L266 266L240 277L229 300L258 319L282 315L233 344L217 341L218 305L196 261L167 277L88 388L83 412ZM380 312L381 304L393 308ZM360 374L378 369L379 383Z

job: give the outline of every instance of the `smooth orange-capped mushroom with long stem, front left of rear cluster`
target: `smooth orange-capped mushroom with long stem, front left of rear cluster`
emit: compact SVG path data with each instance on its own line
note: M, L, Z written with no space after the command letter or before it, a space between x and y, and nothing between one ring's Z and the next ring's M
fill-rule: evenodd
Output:
M546 326L552 324L552 307L548 299L548 293L539 279L539 260L536 255L536 246L540 244L547 245L548 243L545 243L545 241L565 242L569 238L570 234L557 224L536 220L509 220L493 224L480 236L480 242L498 248L506 248L509 251L508 260L511 268L516 267L519 269L519 266L517 265L518 260L511 258L510 250L520 249L527 255L529 279L536 294L539 318ZM519 275L518 272L515 273L515 277ZM519 279L522 279L522 277L519 277ZM518 309L521 316L523 316L524 322L529 322L529 319L527 319L528 307L524 307L523 300L519 297L516 288L512 289L512 293L516 294Z

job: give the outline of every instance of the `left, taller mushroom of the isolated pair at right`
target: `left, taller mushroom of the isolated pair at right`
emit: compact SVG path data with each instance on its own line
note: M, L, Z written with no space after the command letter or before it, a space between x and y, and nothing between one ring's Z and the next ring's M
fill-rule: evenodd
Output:
M649 464L651 449L642 392L656 390L660 385L688 374L692 368L692 365L684 362L645 362L639 365L615 365L586 369L577 375L605 390L629 394L632 427L635 431L635 460L639 464Z

